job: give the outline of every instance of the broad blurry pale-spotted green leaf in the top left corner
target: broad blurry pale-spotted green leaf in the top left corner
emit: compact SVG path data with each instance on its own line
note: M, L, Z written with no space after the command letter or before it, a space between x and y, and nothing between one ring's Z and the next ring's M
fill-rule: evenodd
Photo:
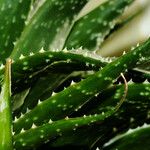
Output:
M0 1L0 62L10 55L20 36L30 9L31 0Z

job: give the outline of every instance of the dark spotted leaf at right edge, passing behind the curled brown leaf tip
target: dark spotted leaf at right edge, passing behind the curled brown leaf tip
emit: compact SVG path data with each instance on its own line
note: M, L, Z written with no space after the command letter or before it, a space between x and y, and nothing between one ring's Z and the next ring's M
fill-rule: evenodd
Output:
M135 128L144 122L149 122L150 84L146 82L143 84L129 84L128 86L128 95L123 105L114 116L104 123L107 130L105 130L105 136L102 136L99 142L97 141L99 145L104 144L107 140L113 138L120 132L125 132L129 128ZM107 93L108 92L105 94ZM113 96L101 104L97 104L98 107L90 110L87 114L111 110L111 107L116 105L116 102L120 100L123 93L123 88L117 89ZM100 97L98 99L100 99Z

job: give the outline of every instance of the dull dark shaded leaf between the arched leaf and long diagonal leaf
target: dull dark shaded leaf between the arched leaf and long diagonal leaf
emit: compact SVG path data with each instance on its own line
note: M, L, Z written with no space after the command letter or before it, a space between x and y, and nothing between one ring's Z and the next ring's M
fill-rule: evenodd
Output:
M56 69L56 68L55 68ZM64 67L63 67L64 69ZM59 70L59 69L58 69ZM24 99L24 103L14 112L14 116L25 113L32 109L38 103L49 98L53 92L60 92L64 88L70 86L71 82L79 82L82 78L86 78L88 72L75 71L70 73L48 73L48 75L40 77L31 87L30 92ZM39 86L40 85L40 86ZM19 102L20 99L17 99Z

